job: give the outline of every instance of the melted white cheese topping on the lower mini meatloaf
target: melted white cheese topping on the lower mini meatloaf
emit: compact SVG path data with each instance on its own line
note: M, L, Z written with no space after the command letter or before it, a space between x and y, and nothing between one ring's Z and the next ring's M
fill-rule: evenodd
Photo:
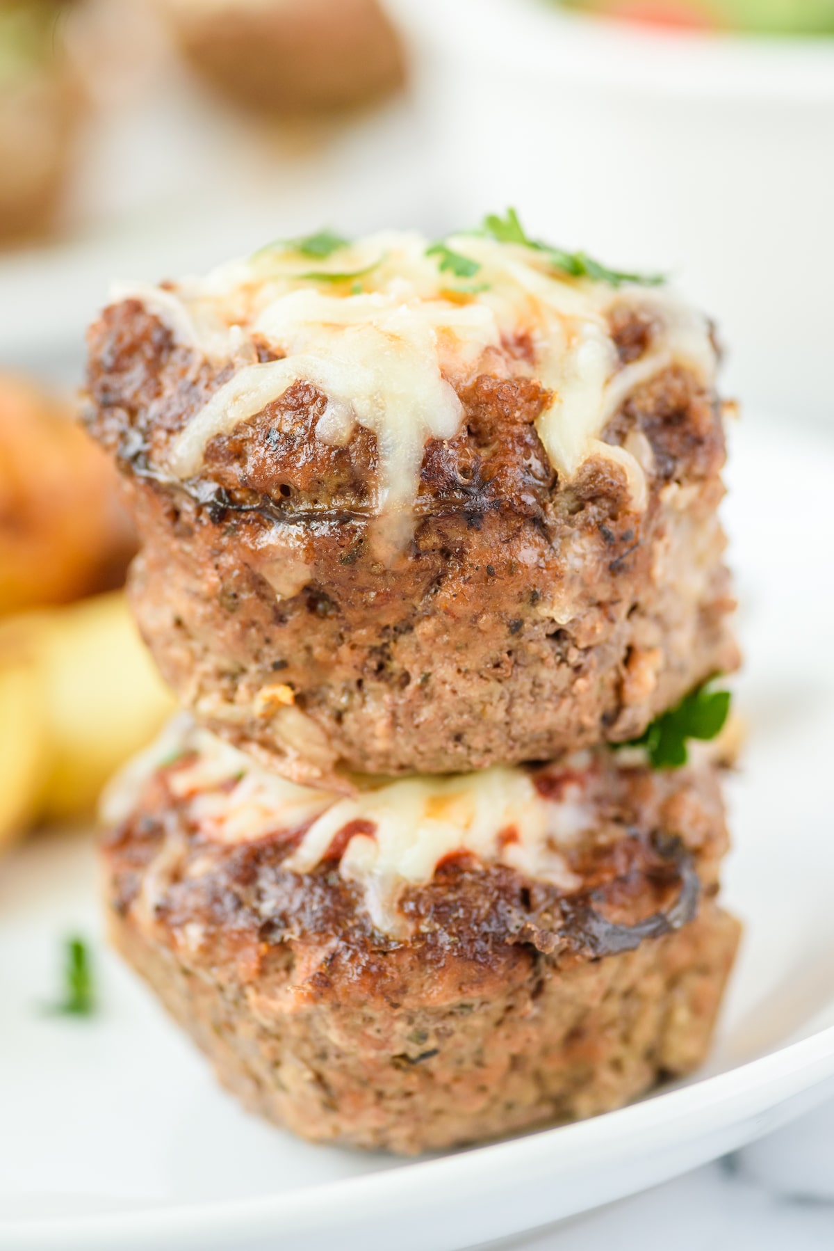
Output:
M176 752L183 763L170 766L168 784L204 838L226 846L293 839L284 868L295 873L338 858L340 876L361 888L374 924L393 934L408 931L396 906L401 892L428 884L438 864L460 852L575 889L580 883L564 853L599 822L589 753L565 763L558 799L541 796L529 771L508 767L391 782L356 778L363 789L345 798L269 773L181 717L110 786L103 817L124 821Z

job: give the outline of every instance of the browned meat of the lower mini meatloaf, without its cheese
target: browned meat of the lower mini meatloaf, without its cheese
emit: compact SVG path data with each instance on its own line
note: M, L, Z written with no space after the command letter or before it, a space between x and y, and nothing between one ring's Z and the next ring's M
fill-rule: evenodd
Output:
M738 942L709 771L611 773L581 887L441 864L374 929L336 861L219 846L161 769L104 842L114 941L255 1111L318 1141L449 1147L616 1107L705 1053ZM541 774L546 786L546 772Z

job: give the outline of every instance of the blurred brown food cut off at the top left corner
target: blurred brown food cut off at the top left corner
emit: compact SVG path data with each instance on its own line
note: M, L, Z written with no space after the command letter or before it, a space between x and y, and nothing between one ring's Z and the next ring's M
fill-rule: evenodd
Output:
M75 155L83 91L59 0L0 4L0 240L49 226Z

